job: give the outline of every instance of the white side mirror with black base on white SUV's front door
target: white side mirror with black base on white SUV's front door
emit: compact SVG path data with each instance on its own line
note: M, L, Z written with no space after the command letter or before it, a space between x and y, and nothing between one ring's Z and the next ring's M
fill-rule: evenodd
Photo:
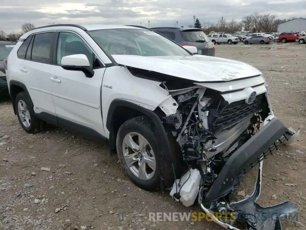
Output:
M65 70L82 71L87 78L92 78L95 74L90 67L88 58L84 54L73 54L62 57L61 67Z

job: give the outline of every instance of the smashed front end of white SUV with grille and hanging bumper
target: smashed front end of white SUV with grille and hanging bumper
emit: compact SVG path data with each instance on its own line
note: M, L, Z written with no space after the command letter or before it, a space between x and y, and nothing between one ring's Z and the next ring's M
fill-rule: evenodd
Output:
M177 103L177 113L161 120L171 130L186 169L182 174L174 172L170 195L187 207L198 201L205 213L227 229L282 229L281 216L297 207L289 201L262 207L255 201L261 191L263 159L279 145L295 141L299 130L286 128L274 117L263 76L197 82L179 90L167 82L160 86ZM243 176L256 165L254 193L231 203ZM227 213L236 217L231 219Z

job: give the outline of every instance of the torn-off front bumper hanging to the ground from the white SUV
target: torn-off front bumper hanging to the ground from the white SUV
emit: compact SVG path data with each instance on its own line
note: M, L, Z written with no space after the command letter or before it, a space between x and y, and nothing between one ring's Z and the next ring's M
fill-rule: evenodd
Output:
M198 202L203 211L214 222L226 229L281 230L281 217L294 212L297 207L289 201L274 206L262 207L256 203L256 200L261 191L263 159L279 145L293 138L294 134L275 117L266 123L259 132L230 156L205 197L203 197L204 188L200 189ZM257 163L259 163L259 170L253 194L242 201L230 204L220 201L225 207L222 211L235 213L236 215L242 213L244 217L252 217L252 221L247 221L247 218L241 219L237 216L236 219L221 217L220 211L217 211L218 205L216 205L215 201L221 200L220 197L233 191L235 181L241 180L241 177Z

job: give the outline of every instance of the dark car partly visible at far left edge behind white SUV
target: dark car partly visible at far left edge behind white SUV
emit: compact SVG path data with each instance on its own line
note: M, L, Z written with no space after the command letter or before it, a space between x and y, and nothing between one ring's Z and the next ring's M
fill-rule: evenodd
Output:
M5 65L9 53L16 44L12 41L0 39L0 95L8 95L9 90L6 81Z

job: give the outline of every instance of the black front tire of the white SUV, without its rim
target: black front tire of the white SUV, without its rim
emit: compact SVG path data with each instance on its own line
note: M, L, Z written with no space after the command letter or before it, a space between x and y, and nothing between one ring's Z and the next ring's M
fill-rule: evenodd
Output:
M130 171L127 166L122 150L123 139L130 132L137 132L143 136L150 144L155 157L156 169L152 178L148 180L142 180ZM148 191L160 190L160 175L159 175L159 153L157 147L157 139L155 135L155 128L153 121L146 116L134 117L128 121L125 121L119 128L116 139L117 154L119 161L125 171L125 173L131 178L132 182L138 187Z

